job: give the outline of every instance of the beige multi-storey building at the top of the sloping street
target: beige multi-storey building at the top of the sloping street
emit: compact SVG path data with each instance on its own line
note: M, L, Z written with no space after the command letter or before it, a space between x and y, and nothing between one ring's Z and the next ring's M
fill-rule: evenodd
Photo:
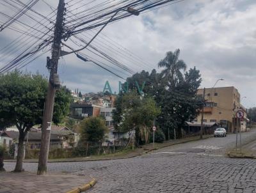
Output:
M204 89L198 89L197 95L203 96ZM204 122L216 122L220 127L226 128L228 132L234 132L240 128L246 130L246 121L236 118L239 109L244 111L246 120L246 109L241 106L240 93L234 86L221 88L205 88ZM201 121L202 112L197 117Z

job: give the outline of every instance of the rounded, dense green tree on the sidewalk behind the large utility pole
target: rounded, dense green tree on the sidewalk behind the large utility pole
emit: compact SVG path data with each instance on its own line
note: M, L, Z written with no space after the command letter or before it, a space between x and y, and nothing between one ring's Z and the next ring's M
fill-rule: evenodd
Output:
M16 172L22 171L24 138L33 125L42 124L47 79L36 73L19 71L0 75L1 127L15 125L19 130ZM70 91L62 87L56 92L53 122L58 124L68 113Z

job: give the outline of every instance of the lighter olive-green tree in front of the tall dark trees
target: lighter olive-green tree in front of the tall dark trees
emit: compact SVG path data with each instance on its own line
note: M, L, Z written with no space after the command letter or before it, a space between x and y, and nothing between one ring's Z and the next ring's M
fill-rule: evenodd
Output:
M115 102L113 123L116 130L128 132L135 130L138 144L148 143L150 128L160 113L152 98L143 98L136 91L120 94Z

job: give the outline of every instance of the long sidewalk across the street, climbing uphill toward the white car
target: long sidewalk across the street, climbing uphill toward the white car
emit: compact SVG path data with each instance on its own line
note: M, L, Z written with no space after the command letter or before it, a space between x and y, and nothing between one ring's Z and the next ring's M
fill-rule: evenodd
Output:
M213 135L204 135L203 139L212 137ZM132 158L148 153L152 150L157 150L159 148L164 148L166 146L172 146L174 144L188 143L189 141L197 141L200 136L186 137L183 139L164 141L164 143L145 144L141 148L136 148L135 150L127 149L126 151L119 151L117 153L107 154L107 155L95 155L92 157L75 157L75 158L59 158L59 159L49 159L48 162L86 162L86 161L99 161L99 160L116 160L123 158ZM16 162L16 160L4 160L4 162ZM24 162L38 162L38 159L25 159Z

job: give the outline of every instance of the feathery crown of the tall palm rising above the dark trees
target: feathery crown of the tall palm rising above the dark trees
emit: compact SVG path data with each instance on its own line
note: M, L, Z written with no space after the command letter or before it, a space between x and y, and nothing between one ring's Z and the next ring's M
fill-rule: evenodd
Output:
M187 68L186 63L182 59L179 59L179 55L180 49L175 50L175 52L167 52L165 58L161 59L158 63L159 68L165 68L161 72L161 75L170 86L174 86L176 81L183 80L181 70L185 71Z

